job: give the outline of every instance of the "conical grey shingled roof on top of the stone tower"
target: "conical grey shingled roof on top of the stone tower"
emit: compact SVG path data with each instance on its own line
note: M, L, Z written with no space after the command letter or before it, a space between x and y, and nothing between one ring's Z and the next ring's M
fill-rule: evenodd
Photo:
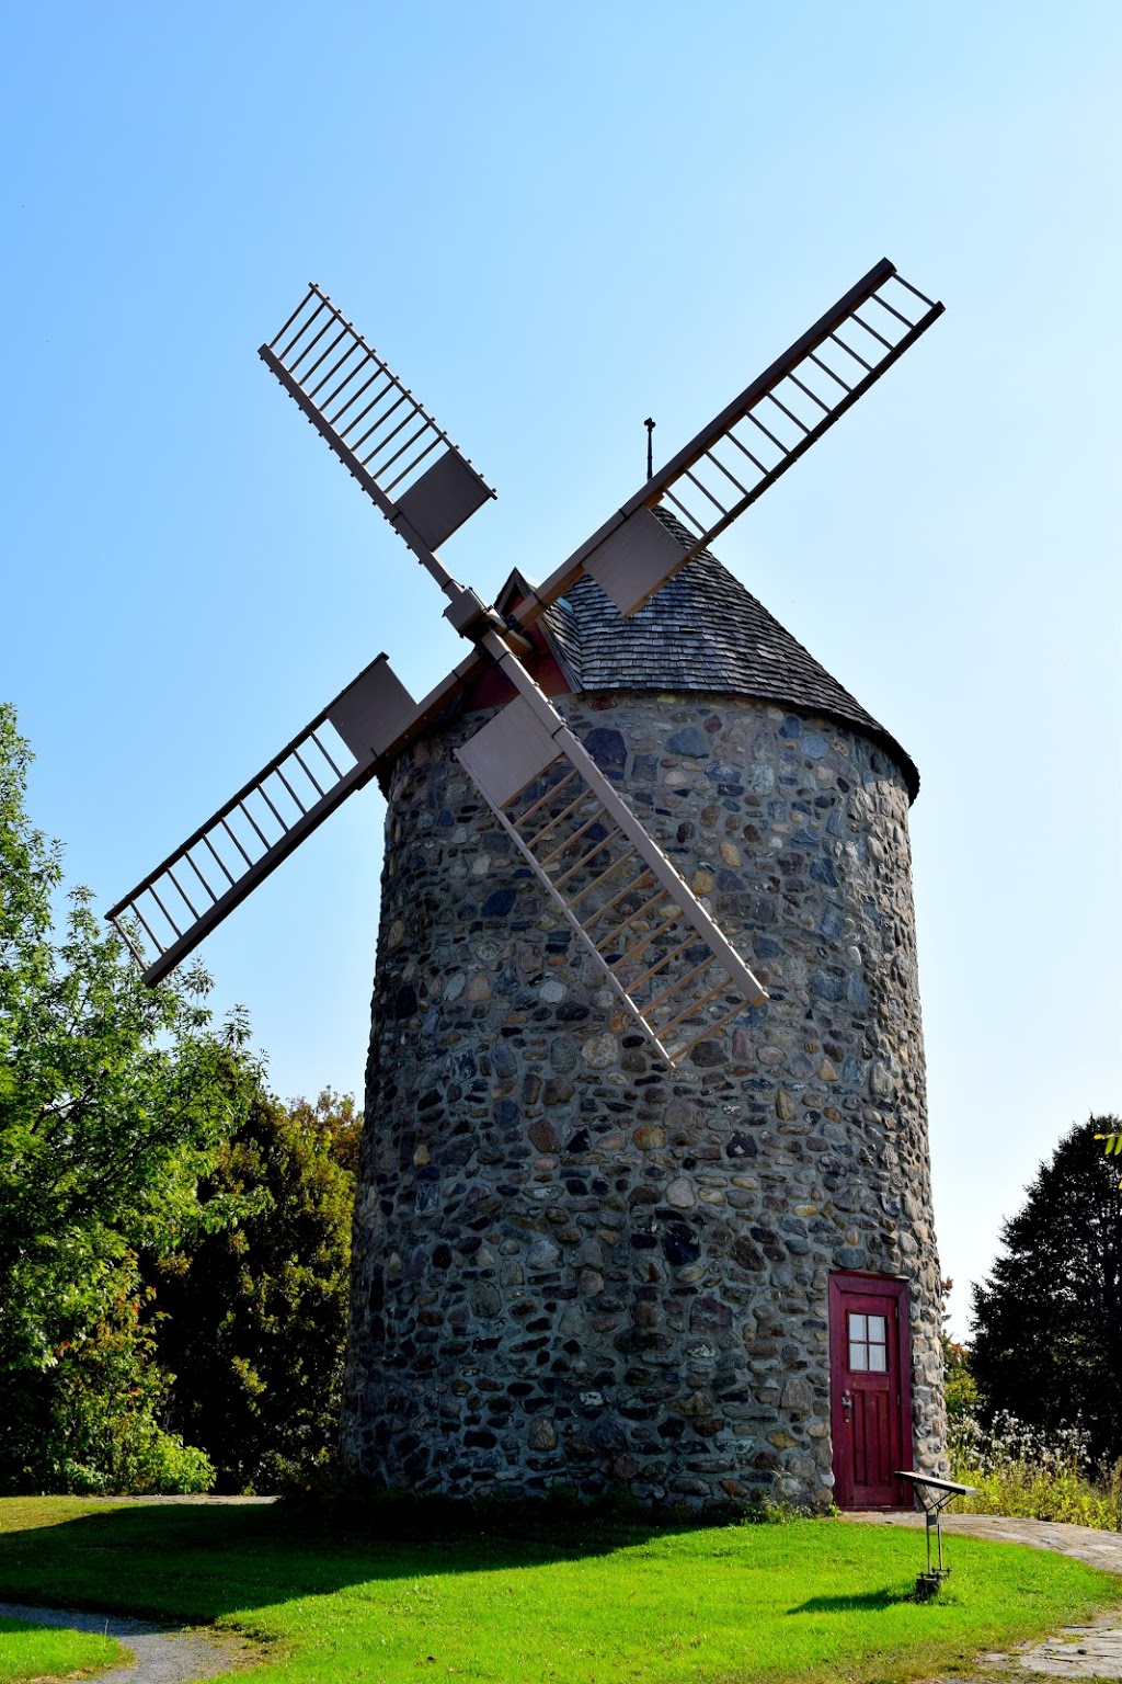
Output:
M915 800L910 754L701 551L627 620L587 573L545 615L574 690L712 690L750 695L853 726L893 758Z

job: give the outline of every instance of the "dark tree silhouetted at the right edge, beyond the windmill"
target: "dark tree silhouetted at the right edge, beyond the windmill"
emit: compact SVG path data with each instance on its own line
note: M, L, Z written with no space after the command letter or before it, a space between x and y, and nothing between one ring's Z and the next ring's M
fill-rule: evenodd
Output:
M1006 1255L974 1288L971 1367L986 1415L1080 1421L1092 1455L1122 1457L1122 1192L1095 1133L1072 1128L1003 1226Z

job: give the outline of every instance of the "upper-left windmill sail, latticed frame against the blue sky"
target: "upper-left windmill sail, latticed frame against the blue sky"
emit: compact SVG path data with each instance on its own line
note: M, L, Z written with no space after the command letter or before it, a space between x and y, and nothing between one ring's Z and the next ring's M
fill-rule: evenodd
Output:
M495 497L315 281L257 355L426 566Z

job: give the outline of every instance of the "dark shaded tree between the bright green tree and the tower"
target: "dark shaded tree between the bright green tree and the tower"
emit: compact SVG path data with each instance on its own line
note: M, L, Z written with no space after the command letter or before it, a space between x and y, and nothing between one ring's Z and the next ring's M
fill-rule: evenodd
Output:
M148 1268L167 1418L222 1490L308 1487L335 1465L357 1133L330 1090L316 1105L259 1095L198 1186L204 1207L242 1214Z

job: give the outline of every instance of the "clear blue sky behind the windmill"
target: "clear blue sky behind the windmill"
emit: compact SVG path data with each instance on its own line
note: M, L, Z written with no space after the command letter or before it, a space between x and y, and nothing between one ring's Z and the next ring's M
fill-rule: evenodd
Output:
M944 1268L1120 1110L1119 37L1102 3L8 0L0 694L103 908L432 584L257 362L318 280L542 576L876 258L945 318L718 546L905 743ZM367 791L204 955L362 1090Z

